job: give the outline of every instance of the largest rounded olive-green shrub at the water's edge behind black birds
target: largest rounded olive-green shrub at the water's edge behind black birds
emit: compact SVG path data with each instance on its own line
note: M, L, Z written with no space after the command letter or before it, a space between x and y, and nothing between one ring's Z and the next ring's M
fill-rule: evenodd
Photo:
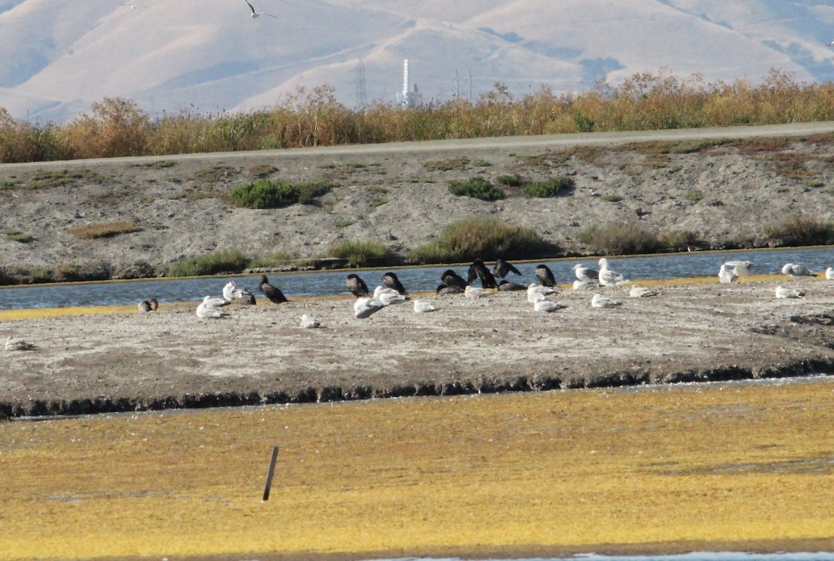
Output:
M557 249L530 228L493 217L473 217L449 224L433 242L414 249L409 258L416 263L460 263L476 258L545 257Z

